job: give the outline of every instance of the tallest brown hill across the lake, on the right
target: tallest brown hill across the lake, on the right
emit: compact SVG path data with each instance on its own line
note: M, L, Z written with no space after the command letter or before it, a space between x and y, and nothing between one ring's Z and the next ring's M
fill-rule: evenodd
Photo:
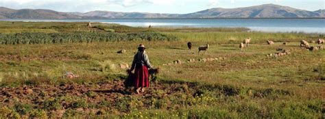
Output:
M213 8L180 15L181 18L321 18L324 16L324 12L299 10L274 4L232 9Z

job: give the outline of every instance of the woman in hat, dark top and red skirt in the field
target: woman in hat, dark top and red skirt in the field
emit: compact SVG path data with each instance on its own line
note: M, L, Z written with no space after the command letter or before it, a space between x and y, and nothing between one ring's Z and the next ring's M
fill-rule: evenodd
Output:
M136 86L136 93L145 92L145 88L149 87L149 72L148 68L151 68L149 57L145 53L145 45L139 44L138 53L134 55L132 66L130 71L134 70Z

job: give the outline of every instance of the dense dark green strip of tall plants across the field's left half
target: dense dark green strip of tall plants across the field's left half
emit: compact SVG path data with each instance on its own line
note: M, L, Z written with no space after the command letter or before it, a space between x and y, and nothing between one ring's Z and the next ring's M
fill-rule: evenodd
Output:
M171 35L156 32L141 33L19 33L0 34L0 44L56 44L71 42L109 42L122 40L178 40Z

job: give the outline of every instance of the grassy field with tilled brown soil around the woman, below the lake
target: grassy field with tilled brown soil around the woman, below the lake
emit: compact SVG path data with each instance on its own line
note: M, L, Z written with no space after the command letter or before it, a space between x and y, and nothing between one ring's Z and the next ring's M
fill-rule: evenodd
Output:
M153 32L177 39L0 44L0 117L325 118L325 51L299 47L300 40L324 39L324 34L86 25L0 22L0 32L19 35L31 29L37 34L85 36ZM239 43L249 37L250 47L239 51ZM187 42L193 43L192 51ZM128 76L119 64L131 64L140 43L161 72L144 94L135 94L124 88ZM210 44L208 51L197 53L197 47L205 44ZM267 57L279 48L291 54ZM117 53L121 49L126 52ZM218 59L186 62L212 57ZM177 59L182 64L163 65ZM65 72L80 77L66 79Z

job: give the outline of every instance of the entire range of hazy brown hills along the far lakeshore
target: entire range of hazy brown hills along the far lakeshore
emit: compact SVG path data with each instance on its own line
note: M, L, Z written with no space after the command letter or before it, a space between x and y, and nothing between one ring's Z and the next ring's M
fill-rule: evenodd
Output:
M325 10L308 11L282 5L264 4L246 8L212 8L189 14L145 12L91 11L56 12L53 10L13 10L0 7L0 19L62 19L62 18L325 18Z

